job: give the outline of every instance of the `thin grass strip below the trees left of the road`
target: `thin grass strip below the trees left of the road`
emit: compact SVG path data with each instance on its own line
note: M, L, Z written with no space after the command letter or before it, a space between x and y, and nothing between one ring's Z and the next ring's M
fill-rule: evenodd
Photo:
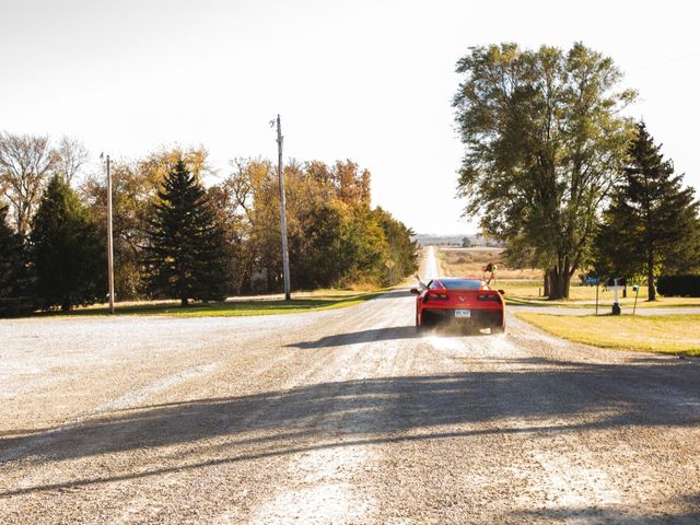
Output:
M301 312L343 308L360 304L387 290L353 292L346 290L323 290L292 294L292 301L282 299L250 298L235 299L221 303L195 303L182 307L177 301L154 301L115 305L115 315L172 315L176 317L236 317L246 315L295 314ZM39 315L108 315L104 304L75 308L69 313L49 312Z

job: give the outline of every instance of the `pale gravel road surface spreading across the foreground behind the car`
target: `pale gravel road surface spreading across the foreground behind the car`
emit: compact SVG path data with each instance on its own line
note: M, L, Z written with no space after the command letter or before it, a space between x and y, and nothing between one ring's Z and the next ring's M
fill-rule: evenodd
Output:
M413 300L0 322L0 523L700 523L700 361Z

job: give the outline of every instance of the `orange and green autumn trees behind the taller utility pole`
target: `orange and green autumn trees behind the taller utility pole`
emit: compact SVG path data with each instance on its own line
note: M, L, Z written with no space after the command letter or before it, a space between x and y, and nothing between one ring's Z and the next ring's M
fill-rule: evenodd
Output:
M285 167L290 265L293 289L368 287L398 282L417 268L412 232L370 206L371 174L352 161L319 161ZM229 218L245 232L242 282L257 270L264 289L282 287L277 174L267 161L238 160L223 183L233 202ZM260 271L261 270L261 271Z

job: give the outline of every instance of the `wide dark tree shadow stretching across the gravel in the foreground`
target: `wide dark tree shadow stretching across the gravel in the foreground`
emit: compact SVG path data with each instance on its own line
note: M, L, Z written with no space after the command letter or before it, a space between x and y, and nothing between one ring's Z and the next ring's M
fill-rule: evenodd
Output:
M0 497L357 444L700 425L700 382L695 368L682 369L682 362L515 359L508 364L499 372L329 382L152 405L72 427L0 434L0 464L12 454L28 465L178 444L189 444L194 451L184 457L168 456L167 463L145 471L117 469L104 477L5 490ZM526 425L511 427L513 420ZM475 423L481 424L475 428ZM217 453L208 454L214 447ZM200 454L215 458L198 463Z

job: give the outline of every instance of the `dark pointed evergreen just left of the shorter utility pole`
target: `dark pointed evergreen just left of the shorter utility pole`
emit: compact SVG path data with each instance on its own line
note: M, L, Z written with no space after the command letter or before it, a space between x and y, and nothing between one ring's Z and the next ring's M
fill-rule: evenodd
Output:
M42 307L68 312L105 300L104 238L90 211L58 175L42 197L31 240Z

